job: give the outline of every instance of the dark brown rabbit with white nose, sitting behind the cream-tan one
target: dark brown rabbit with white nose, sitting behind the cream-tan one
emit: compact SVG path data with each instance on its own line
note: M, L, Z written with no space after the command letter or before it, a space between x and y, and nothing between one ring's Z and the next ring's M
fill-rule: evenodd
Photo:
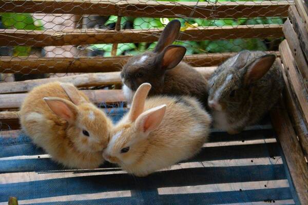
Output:
M163 30L153 51L131 57L123 66L123 93L130 106L134 92L143 83L150 83L149 96L190 95L207 103L207 80L182 58L186 48L171 45L181 28L179 20L171 20Z

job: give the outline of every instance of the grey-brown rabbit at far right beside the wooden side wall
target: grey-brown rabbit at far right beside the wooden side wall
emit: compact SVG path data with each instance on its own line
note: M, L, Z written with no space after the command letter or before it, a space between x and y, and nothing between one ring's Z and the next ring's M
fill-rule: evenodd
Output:
M268 112L283 90L274 54L243 50L228 58L210 76L208 107L215 128L241 132Z

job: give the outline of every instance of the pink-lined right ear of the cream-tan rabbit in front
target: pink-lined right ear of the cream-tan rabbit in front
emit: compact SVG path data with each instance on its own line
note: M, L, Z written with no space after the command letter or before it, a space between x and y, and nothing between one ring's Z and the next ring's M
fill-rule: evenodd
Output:
M137 130L149 133L156 129L162 122L166 112L166 105L158 106L142 113L136 120Z

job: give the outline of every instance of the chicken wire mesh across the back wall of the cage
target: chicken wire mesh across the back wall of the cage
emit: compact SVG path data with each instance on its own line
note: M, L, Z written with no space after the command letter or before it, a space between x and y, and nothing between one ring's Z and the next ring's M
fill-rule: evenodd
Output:
M1 82L118 70L181 21L186 55L278 50L291 1L1 1ZM16 13L18 12L18 13ZM91 15L100 14L100 15ZM118 17L119 15L122 17ZM267 29L267 30L266 30ZM100 56L91 60L93 56ZM111 60L105 58L123 56ZM209 55L210 56L210 55ZM215 65L195 60L194 66Z

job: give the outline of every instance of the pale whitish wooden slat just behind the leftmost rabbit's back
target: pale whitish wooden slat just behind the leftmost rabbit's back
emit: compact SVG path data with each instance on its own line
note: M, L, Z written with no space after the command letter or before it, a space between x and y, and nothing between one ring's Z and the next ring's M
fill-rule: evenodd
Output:
M206 79L214 72L217 67L196 67L195 69L200 72ZM53 81L60 81L62 83L72 83L76 87L93 87L104 85L119 85L121 83L120 72L108 73L87 73L80 75L71 75L58 78L43 78L25 81L16 81L9 83L0 83L0 93L22 93L32 90L32 88L50 83Z

